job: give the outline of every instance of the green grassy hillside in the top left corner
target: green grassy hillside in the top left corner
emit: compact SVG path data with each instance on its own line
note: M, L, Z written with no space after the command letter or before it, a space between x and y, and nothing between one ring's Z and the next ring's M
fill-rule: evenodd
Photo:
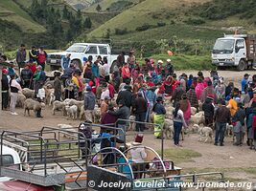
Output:
M37 24L26 11L23 11L12 0L0 1L0 16L1 19L16 24L23 32L45 32L44 27Z

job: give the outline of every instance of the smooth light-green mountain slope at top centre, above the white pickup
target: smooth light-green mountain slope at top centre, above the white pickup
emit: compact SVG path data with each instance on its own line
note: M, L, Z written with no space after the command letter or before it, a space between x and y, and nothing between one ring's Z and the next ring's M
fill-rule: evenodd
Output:
M176 9L181 9L185 5L190 6L193 3L203 2L207 2L207 0L157 0L157 3L155 0L145 0L110 19L98 29L90 32L89 36L101 37L107 29L111 32L115 28L128 28L128 30L134 31L145 23L151 25L157 24L159 21L170 23L173 19L172 17L175 17L176 20L179 19L179 15L173 15ZM154 19L154 16L158 18Z

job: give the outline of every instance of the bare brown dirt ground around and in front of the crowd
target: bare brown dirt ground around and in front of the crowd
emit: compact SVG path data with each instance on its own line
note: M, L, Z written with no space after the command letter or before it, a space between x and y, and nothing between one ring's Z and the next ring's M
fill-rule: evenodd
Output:
M183 72L178 72L181 74ZM186 74L197 74L198 72L185 72ZM248 71L248 74L256 74L255 71ZM209 72L204 72L207 76ZM233 81L241 88L240 83L244 72L221 71L219 72L224 77L225 82ZM59 123L71 124L78 126L80 120L67 120L62 117L61 112L52 115L51 108L46 106L42 111L43 118L35 118L33 112L31 117L24 117L23 109L17 108L18 116L11 116L9 111L3 111L0 114L0 131L7 129L13 131L30 131L38 130L42 126L56 127ZM201 157L194 158L188 162L178 163L178 166L183 168L184 172L204 172L207 171L224 171L225 177L231 180L244 180L256 182L256 152L251 151L244 144L241 147L233 146L232 138L225 139L223 147L213 145L213 142L202 143L198 141L197 134L186 135L182 142L183 147L175 148L172 139L164 140L164 148L169 149L191 149L201 154ZM128 138L132 140L132 136ZM156 150L160 150L160 140L153 138L152 133L147 134L144 138L144 144L151 146Z

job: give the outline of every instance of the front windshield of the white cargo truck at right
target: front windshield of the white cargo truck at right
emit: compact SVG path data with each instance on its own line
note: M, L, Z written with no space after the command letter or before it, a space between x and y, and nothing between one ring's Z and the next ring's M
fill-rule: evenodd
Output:
M234 39L218 39L214 45L213 53L233 53Z

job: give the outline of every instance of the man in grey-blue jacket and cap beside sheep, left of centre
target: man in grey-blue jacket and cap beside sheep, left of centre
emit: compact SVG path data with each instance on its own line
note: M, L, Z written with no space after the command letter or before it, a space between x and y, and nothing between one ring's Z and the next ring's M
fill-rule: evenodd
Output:
M93 110L96 104L96 96L91 92L92 88L90 86L86 87L86 93L84 94L84 115L85 120L93 121Z

